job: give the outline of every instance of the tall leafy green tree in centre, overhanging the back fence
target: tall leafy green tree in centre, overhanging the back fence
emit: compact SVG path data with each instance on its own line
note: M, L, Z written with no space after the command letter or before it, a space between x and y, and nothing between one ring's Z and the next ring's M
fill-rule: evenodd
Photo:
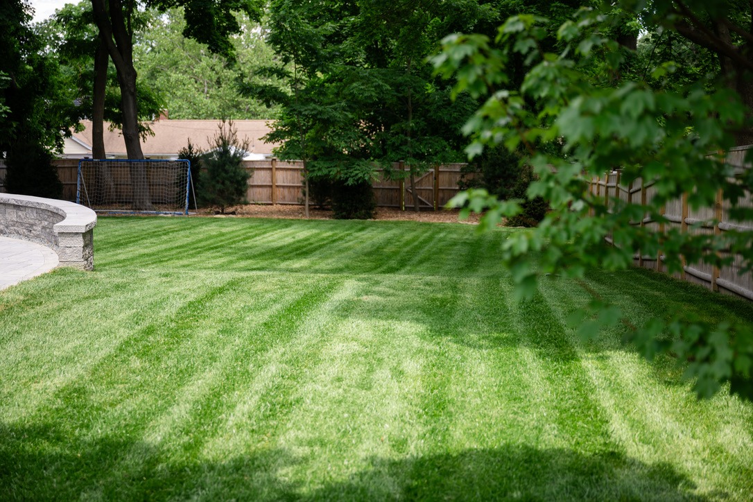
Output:
M451 102L425 57L447 33L495 17L477 0L271 2L269 40L291 93L270 137L285 140L283 157L303 154L312 178L345 184L398 160L415 175L459 157L456 119L470 101Z

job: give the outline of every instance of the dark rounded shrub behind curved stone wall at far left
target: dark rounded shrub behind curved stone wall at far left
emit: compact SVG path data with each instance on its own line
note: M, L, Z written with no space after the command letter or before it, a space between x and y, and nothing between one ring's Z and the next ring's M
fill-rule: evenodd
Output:
M8 193L49 199L62 197L62 183L52 165L52 154L38 142L20 138L8 152L5 166L8 168L5 175Z

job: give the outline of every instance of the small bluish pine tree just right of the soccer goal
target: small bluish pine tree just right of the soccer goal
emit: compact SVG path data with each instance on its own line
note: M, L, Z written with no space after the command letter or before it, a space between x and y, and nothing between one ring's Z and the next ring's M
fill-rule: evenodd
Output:
M232 120L223 120L214 138L209 140L212 149L201 157L203 172L200 175L202 205L214 206L224 214L225 209L245 203L248 178L243 168L243 157L248 151L248 138L239 140Z

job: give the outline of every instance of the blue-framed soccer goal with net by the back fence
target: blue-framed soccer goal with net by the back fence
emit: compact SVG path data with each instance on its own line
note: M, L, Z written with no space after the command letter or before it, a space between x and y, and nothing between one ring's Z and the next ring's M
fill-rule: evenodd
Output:
M188 214L188 160L81 160L76 202L100 212Z

